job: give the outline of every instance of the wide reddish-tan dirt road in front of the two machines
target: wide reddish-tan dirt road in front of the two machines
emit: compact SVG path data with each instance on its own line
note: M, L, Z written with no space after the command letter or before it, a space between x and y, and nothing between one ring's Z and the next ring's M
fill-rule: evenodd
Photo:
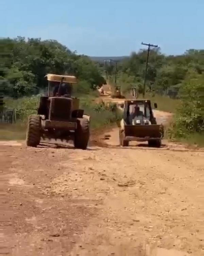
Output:
M108 135L86 151L0 142L0 254L204 255L204 150Z

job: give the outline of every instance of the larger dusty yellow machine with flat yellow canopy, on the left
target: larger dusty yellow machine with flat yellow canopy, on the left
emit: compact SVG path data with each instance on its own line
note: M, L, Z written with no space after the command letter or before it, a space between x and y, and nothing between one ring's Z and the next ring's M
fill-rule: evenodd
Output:
M46 77L47 95L40 96L37 115L28 119L27 145L37 147L41 138L49 138L73 140L75 148L86 149L90 116L79 108L79 99L71 96L72 84L77 83L77 78L55 74Z

